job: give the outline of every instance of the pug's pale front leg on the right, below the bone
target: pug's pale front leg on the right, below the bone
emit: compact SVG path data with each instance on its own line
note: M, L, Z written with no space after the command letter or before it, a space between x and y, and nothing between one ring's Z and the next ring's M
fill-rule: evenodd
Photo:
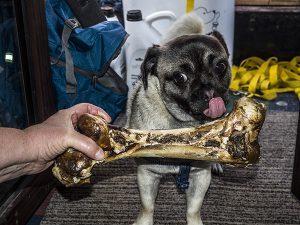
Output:
M190 172L190 186L186 191L187 199L187 224L203 225L200 217L200 208L205 193L211 180L210 166L204 168L192 168Z

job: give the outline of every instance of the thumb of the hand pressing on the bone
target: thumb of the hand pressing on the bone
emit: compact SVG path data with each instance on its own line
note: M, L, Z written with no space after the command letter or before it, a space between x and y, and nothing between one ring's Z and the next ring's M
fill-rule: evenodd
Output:
M101 160L104 157L103 150L96 142L76 131L69 136L67 145L95 160Z

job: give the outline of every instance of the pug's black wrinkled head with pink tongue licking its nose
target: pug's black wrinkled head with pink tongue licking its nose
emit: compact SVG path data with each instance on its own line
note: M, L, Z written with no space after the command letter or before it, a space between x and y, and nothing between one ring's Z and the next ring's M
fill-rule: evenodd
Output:
M218 32L150 48L142 65L145 88L150 74L158 77L166 108L180 121L214 119L226 111L231 72Z

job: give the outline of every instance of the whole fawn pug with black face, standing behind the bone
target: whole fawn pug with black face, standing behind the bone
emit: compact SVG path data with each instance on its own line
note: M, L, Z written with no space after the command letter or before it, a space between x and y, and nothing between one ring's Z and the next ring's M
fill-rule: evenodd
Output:
M202 21L188 14L170 28L160 46L148 49L141 79L130 93L127 124L135 129L175 129L196 126L226 111L230 82L228 50L222 35L202 33ZM142 209L134 225L152 225L159 183L189 165L187 224L201 225L200 208L210 185L206 161L138 159L137 180Z

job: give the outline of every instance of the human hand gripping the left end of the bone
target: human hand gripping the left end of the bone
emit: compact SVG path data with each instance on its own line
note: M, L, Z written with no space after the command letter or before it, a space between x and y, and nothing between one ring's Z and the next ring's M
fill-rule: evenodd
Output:
M111 118L101 108L82 103L69 109L60 110L41 124L25 129L28 146L29 172L38 173L47 169L53 160L67 148L72 147L90 158L101 160L102 149L90 138L75 131L78 118L90 113L103 117L107 122Z

